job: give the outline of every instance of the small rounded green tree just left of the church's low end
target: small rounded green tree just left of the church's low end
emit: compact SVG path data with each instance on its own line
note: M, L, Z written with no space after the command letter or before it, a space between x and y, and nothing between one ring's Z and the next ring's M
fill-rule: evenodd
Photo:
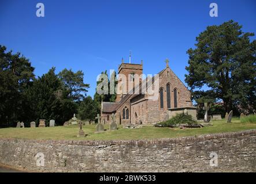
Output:
M81 120L94 120L98 113L97 102L90 96L81 101L78 110L78 116Z

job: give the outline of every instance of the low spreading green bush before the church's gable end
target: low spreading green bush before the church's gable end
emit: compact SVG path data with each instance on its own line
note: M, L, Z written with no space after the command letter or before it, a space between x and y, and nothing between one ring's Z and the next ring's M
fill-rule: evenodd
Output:
M159 122L155 125L155 127L175 127L177 124L198 124L195 120L193 120L191 115L186 115L184 113L177 114L175 117L170 118L170 120Z

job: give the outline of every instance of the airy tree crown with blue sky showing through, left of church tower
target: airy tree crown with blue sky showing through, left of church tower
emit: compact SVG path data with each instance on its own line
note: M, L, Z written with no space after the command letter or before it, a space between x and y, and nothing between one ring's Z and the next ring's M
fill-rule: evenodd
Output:
M65 68L58 76L64 84L64 87L66 87L69 98L73 101L83 99L84 95L82 93L86 93L90 85L84 83L84 73L81 70L73 72Z

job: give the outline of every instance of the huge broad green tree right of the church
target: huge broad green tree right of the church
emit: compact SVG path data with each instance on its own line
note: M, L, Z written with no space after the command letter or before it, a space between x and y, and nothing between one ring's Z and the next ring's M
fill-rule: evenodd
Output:
M208 26L196 37L196 48L188 49L185 82L196 101L222 99L226 112L234 106L256 109L256 40L237 22ZM203 87L207 87L203 91Z

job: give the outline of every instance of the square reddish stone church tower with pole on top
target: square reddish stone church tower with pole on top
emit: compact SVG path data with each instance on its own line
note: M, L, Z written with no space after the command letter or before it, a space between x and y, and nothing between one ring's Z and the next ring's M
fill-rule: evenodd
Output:
M142 61L140 64L131 63L131 54L129 57L129 63L124 63L124 59L122 59L122 63L118 66L118 83L117 83L118 92L117 92L116 102L119 102L125 94L128 94L129 90L131 90L129 89L129 86L131 87L132 85L133 87L135 87L136 82L133 76L134 75L141 76L143 74L142 66L143 66ZM139 84L141 82L142 82L142 78L139 78Z

